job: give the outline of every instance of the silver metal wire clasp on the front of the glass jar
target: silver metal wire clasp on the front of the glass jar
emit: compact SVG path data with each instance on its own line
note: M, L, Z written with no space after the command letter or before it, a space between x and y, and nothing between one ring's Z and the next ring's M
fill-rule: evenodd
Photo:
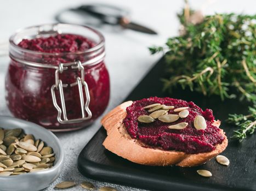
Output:
M63 87L68 87L68 84L62 84L62 81L59 79L59 74L63 73L64 70L67 70L68 67L71 66L72 69L78 69L81 73L81 77L76 78L76 82L71 83L70 87L73 86L78 86L79 90L79 98L80 98L80 103L81 103L81 110L82 110L82 118L76 118L72 120L67 119L67 112L66 112L66 105L65 105L65 98L64 98L64 92L63 92ZM84 98L83 98L83 86L84 86L84 92L86 94L86 103L84 104ZM61 108L58 105L56 101L56 95L55 95L55 88L59 89L60 92L60 101L61 101ZM77 122L82 122L85 120L89 120L92 118L92 112L89 109L89 103L90 103L90 94L89 94L89 89L86 81L84 81L84 67L81 64L80 61L77 62L71 62L71 63L65 63L62 64L60 63L59 68L56 69L55 71L55 84L51 88L52 92L52 98L53 98L53 105L55 106L56 110L58 110L58 122L65 124L65 123L77 123ZM87 112L87 116L86 116ZM61 114L63 113L63 119L61 119Z

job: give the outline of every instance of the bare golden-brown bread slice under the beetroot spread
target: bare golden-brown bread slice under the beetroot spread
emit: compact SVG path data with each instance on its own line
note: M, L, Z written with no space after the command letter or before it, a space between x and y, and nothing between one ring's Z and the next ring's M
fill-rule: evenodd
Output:
M132 139L123 125L123 120L126 117L126 108L132 103L132 101L128 101L118 105L101 120L101 124L107 131L107 137L103 145L107 150L120 157L134 163L151 166L197 166L217 156L227 146L227 138L221 129L225 139L221 144L216 145L215 150L211 152L186 154L184 152L165 151L161 148L149 147L140 140ZM215 121L214 126L219 127L220 121Z

